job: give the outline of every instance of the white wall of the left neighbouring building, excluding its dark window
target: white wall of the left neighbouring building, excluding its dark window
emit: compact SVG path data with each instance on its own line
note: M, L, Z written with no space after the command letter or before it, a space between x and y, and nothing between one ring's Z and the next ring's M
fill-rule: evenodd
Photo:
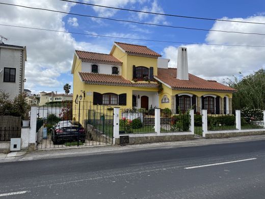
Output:
M22 71L22 76L20 77L21 52L23 58L23 51L21 49L11 49L0 46L0 70L3 69L0 73L0 90L8 92L11 99L24 90L23 82L21 82L24 79L24 69ZM16 82L4 82L5 67L16 68ZM19 84L21 85L19 86Z

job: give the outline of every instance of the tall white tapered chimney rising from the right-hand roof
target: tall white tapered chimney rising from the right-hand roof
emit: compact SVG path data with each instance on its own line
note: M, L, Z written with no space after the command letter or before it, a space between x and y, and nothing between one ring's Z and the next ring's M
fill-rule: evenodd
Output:
M177 79L189 80L187 47L177 50Z

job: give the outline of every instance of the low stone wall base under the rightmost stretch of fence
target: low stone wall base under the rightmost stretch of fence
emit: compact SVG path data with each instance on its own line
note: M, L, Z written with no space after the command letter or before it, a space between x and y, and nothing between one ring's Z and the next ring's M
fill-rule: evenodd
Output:
M246 135L262 135L265 131L248 131L248 132L234 132L234 133L206 133L205 138L227 138Z

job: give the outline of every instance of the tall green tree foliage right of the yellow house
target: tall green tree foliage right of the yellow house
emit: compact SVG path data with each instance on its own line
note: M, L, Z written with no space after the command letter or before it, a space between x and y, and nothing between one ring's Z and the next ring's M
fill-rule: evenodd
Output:
M233 110L241 110L244 107L265 110L265 70L259 69L253 74L228 80L228 85L237 90L233 94Z

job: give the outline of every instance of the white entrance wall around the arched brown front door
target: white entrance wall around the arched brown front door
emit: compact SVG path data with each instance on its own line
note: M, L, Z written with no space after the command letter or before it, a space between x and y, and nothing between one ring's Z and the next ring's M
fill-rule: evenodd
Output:
M159 108L159 97L156 94L157 92L152 92L152 91L137 91L134 90L133 94L137 95L137 107L138 109L141 108L141 96L145 95L148 96L148 106L149 108L152 105L152 108L156 107ZM140 95L140 98L138 98L138 95Z

